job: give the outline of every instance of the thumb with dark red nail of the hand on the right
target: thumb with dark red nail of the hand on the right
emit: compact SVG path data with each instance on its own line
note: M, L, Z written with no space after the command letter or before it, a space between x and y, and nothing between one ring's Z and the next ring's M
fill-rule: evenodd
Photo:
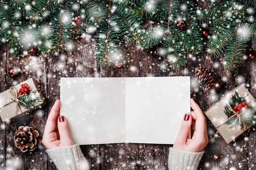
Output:
M183 120L180 125L179 132L177 134L177 137L175 139L175 143L178 142L180 144L185 144L186 140L188 139L188 136L190 136L190 127L192 123L192 118L190 113L186 113L183 116Z

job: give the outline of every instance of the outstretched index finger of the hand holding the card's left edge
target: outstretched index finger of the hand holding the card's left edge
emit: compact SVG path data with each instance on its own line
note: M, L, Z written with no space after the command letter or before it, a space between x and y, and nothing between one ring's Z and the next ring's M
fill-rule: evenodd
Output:
M57 99L54 105L52 106L52 109L47 118L47 122L44 128L44 133L51 133L52 131L55 130L60 106L61 106L61 101Z

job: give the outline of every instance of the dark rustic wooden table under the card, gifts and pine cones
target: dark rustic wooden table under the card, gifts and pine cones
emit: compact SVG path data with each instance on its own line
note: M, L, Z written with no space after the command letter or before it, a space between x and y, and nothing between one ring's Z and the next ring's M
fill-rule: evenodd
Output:
M256 97L256 63L245 61L236 71L236 77L223 73L221 59L207 55L187 56L186 67L177 69L169 64L167 59L157 59L148 52L138 51L134 45L124 48L129 54L127 68L98 68L93 54L94 40L91 42L74 42L74 48L68 53L44 56L11 57L5 44L0 51L0 91L9 89L15 83L28 78L36 78L43 92L47 105L41 109L25 114L9 123L0 123L0 169L23 170L54 170L55 165L47 156L43 145L32 152L22 153L13 143L15 130L19 126L32 126L43 136L47 116L56 99L60 97L60 77L162 77L162 76L190 76L191 97L201 106L202 110L209 108L227 91L240 83L245 84L253 96ZM213 68L224 77L224 85L219 91L209 91L201 87L194 79L194 70L199 65ZM22 68L18 77L8 77L7 71L11 67ZM175 113L178 108L170 108ZM163 129L164 130L164 129ZM256 169L256 135L255 128L251 128L236 139L236 142L226 144L214 130L207 119L209 144L206 147L198 169L201 170L236 170ZM166 134L169 132L166 131ZM94 170L165 170L168 169L167 159L169 147L167 144L96 144L82 145L81 150ZM220 161L214 161L215 154L224 156ZM233 170L233 169L232 169Z

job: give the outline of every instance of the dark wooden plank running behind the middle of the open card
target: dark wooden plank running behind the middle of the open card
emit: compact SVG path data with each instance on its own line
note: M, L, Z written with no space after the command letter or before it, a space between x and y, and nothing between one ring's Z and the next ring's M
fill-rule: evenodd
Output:
M152 57L134 44L124 47L129 61L128 67L101 68L101 77L147 77L152 76ZM126 56L125 56L126 57ZM102 144L101 169L153 169L152 144Z

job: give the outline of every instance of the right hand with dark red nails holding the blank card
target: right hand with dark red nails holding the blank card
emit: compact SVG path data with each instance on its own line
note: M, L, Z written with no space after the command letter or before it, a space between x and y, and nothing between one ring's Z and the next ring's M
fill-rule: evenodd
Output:
M184 115L180 125L180 130L172 148L191 152L201 152L209 142L205 116L194 99L190 99L189 103L194 111L191 111L190 114L186 113ZM192 139L187 138L190 133L190 127L194 131Z

